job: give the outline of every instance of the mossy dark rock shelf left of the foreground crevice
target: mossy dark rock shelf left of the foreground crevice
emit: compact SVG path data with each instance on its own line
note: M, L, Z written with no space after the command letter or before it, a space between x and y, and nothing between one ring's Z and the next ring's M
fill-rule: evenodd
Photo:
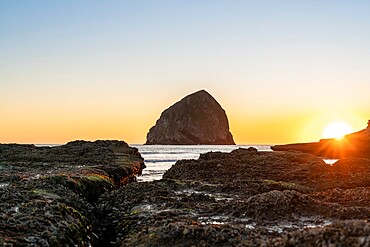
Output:
M135 181L144 167L122 141L0 145L0 246L98 243L98 198Z

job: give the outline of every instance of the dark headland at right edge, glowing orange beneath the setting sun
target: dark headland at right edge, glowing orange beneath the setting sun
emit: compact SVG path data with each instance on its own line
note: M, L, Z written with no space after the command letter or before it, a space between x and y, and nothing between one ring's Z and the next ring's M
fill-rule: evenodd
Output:
M275 145L274 151L296 150L327 158L370 158L370 120L366 129L344 136L343 139L322 139L319 142Z

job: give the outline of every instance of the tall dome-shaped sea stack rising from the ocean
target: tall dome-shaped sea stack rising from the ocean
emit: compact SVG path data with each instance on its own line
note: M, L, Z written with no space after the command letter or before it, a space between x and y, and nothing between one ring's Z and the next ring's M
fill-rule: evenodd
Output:
M147 145L234 145L221 105L205 90L190 94L162 112Z

